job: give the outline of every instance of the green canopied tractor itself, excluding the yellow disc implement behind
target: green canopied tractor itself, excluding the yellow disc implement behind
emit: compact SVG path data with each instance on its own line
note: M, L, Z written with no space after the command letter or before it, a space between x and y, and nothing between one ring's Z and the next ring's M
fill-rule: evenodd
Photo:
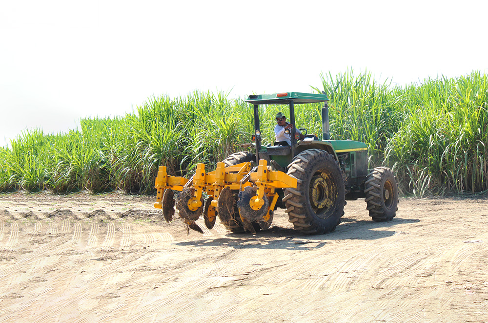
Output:
M254 105L256 158L266 159L279 170L297 178L297 188L283 190L282 202L296 230L308 234L331 232L344 215L346 200L366 199L375 221L391 221L398 210L398 188L389 168L368 170L367 147L352 140L330 140L328 98L324 94L287 92L250 95ZM295 105L325 102L322 108L322 140L304 131L295 133ZM288 105L291 146L261 146L259 105Z

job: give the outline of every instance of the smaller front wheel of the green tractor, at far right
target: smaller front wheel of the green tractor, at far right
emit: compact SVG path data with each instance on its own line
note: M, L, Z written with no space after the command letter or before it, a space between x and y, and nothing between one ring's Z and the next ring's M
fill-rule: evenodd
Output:
M398 185L389 168L377 167L366 177L366 210L373 221L391 221L398 210Z

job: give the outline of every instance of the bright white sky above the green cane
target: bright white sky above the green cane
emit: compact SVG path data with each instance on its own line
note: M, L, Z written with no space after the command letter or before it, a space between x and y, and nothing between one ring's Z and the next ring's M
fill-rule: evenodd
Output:
M405 85L488 72L487 1L0 2L0 146L195 89L310 91L352 67Z

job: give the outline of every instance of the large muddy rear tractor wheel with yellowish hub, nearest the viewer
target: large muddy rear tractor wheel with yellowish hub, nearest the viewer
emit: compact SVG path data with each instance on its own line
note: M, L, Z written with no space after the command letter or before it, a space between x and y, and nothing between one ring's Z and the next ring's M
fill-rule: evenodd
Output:
M297 188L285 189L286 210L295 230L320 235L334 231L344 215L346 190L339 163L319 149L301 152L288 165Z

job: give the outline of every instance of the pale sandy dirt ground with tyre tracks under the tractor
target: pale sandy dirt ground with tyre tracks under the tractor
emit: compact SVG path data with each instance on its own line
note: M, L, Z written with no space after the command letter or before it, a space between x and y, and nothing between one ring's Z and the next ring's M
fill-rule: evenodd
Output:
M154 199L0 195L5 322L486 322L488 198L401 199L300 236L187 235ZM218 221L217 221L218 222ZM199 220L204 228L203 220Z

